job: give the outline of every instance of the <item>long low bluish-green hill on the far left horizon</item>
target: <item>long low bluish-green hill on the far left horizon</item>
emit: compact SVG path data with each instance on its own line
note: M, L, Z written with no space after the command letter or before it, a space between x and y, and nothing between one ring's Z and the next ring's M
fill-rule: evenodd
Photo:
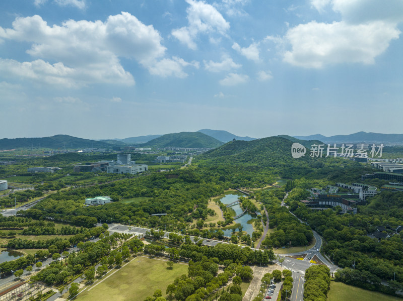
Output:
M0 139L0 149L13 148L111 148L112 144L104 141L95 141L90 139L82 139L69 135L55 135L42 138L15 138L15 139Z

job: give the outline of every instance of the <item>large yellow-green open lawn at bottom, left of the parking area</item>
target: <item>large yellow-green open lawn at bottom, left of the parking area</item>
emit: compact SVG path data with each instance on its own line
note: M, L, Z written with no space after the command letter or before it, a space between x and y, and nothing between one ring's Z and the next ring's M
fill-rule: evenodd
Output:
M187 264L175 263L173 269L168 269L164 260L137 257L94 289L81 293L76 300L144 300L156 289L161 289L166 296L168 284L182 274L187 274Z

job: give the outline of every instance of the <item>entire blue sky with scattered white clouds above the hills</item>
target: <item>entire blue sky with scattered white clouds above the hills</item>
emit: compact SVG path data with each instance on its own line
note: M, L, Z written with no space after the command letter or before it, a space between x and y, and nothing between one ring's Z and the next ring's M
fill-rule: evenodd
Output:
M402 133L403 0L0 8L0 138Z

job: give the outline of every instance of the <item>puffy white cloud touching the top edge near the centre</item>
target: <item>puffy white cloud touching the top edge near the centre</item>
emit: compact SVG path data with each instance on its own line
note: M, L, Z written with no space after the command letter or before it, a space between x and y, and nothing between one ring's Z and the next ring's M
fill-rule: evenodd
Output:
M225 35L230 25L212 5L204 1L186 0L188 26L172 30L172 35L190 49L196 49L194 39L199 33Z

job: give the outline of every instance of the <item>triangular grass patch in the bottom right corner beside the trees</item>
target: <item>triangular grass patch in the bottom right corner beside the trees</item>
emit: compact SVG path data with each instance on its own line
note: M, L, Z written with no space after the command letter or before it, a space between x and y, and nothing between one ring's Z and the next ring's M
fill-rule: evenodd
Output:
M327 293L327 301L344 301L344 300L401 301L401 298L347 285L342 282L331 281L330 290Z

